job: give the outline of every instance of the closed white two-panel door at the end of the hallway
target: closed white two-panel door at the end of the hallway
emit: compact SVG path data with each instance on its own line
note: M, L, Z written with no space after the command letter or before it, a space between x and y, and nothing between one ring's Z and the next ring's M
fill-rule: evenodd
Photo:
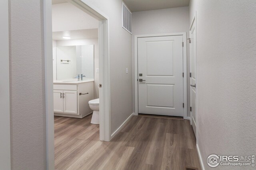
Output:
M138 113L183 117L182 73L182 35L138 38Z

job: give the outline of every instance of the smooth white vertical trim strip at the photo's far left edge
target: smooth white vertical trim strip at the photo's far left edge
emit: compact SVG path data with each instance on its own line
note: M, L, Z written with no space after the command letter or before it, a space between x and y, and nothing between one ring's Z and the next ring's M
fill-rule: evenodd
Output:
M0 169L11 169L11 141L10 141L10 77L9 77L9 9L8 0L0 1Z

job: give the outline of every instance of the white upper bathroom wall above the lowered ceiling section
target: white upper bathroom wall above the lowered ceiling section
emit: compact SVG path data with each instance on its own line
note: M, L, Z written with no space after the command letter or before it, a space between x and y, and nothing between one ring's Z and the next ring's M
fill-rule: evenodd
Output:
M52 31L98 28L98 20L70 3L52 5Z

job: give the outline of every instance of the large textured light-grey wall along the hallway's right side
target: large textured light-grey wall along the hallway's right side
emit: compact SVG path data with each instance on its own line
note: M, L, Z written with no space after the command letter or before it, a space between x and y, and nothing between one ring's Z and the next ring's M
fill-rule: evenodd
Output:
M197 13L197 140L207 170L210 154L256 153L255 11L255 0L190 0L190 22Z

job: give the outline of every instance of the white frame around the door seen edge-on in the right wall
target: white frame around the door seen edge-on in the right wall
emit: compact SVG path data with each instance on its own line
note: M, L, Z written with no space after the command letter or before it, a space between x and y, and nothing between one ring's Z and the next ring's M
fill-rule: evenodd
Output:
M196 14L195 14L195 16L193 17L193 20L192 20L192 22L191 22L191 24L190 24L190 27L189 27L189 34L190 34L190 31L191 31L191 28L192 28L192 25L193 24L195 24L195 31L196 31ZM196 34L197 34L197 32L196 32ZM196 49L196 36L195 36L195 49ZM190 48L190 54L191 54L191 48ZM195 55L196 55L196 50L195 50ZM190 55L191 56L191 55ZM191 68L191 60L190 60L190 68ZM195 64L196 64L196 62L195 62ZM197 68L197 64L196 64L196 68ZM197 69L196 69L197 70ZM196 139L198 139L198 115L197 115L197 109L198 109L198 96L197 96L197 94L198 94L198 81L197 81L197 71L195 72L195 74L196 74L196 108L195 108L195 113L196 113ZM191 92L190 92L191 93ZM191 94L190 94L190 106L191 106ZM191 111L190 111L190 125L192 125L192 115L191 115ZM198 140L196 140L196 144L198 144Z

